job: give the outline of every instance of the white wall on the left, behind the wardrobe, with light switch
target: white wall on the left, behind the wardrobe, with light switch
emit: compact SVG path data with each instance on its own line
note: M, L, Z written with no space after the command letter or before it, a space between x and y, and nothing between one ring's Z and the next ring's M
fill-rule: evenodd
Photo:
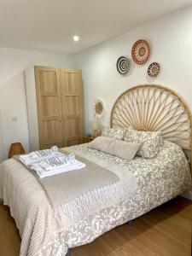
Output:
M29 149L24 69L33 65L73 67L68 55L0 48L0 160L8 156L11 143Z

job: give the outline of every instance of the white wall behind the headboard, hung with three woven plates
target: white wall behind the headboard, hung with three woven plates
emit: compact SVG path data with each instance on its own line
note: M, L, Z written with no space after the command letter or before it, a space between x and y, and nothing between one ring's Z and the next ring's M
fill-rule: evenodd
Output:
M131 61L131 70L122 77L116 70L120 55L131 58L131 47L137 39L146 39L151 47L149 61L138 66ZM156 79L147 74L148 65L160 63ZM90 132L92 106L96 97L102 98L106 107L105 125L116 98L133 85L164 84L189 103L192 109L192 8L155 20L125 35L74 56L76 67L82 68L84 79L85 129Z

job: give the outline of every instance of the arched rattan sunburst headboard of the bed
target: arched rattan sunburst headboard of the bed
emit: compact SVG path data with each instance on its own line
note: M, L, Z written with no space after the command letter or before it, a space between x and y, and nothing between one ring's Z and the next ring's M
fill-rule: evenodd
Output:
M164 139L191 151L192 119L181 96L165 86L143 84L126 90L113 105L111 127L161 131Z

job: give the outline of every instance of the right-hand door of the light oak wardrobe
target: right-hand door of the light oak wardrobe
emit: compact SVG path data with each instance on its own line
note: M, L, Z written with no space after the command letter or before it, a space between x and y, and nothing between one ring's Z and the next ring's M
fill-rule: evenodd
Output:
M82 76L78 69L60 69L62 145L83 142Z

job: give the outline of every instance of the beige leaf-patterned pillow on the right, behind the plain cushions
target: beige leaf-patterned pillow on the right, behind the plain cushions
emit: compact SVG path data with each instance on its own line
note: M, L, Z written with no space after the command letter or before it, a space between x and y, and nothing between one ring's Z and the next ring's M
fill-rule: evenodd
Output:
M163 138L160 136L160 131L136 131L131 127L127 128L124 137L125 142L140 143L137 155L143 158L154 158L163 145Z

